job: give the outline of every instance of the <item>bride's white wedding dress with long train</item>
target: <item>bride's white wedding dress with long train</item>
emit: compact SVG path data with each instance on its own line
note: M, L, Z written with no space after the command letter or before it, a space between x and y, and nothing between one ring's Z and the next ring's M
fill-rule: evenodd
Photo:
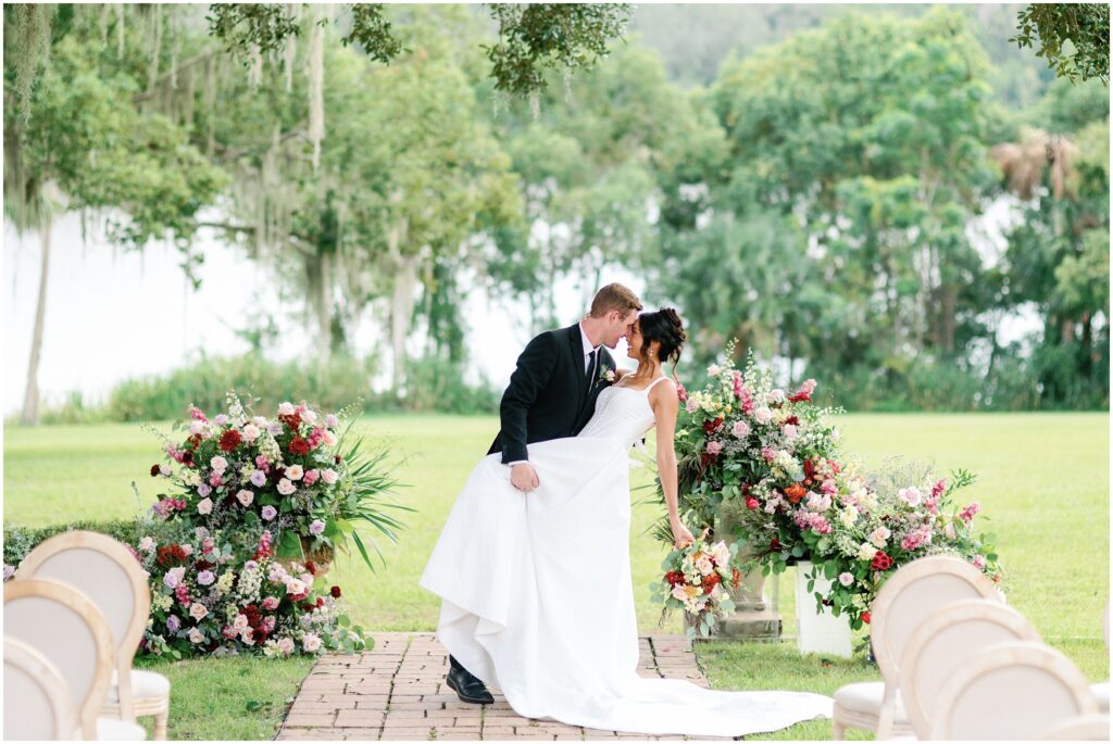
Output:
M420 582L443 599L437 638L530 718L739 736L829 717L824 695L638 675L629 453L654 421L649 389L612 385L578 436L529 445L531 493L499 454L480 460Z

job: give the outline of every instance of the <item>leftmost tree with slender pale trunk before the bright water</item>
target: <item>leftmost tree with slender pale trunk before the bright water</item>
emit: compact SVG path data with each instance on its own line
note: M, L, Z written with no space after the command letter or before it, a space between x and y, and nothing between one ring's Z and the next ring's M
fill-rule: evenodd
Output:
M195 216L224 175L157 113L131 105L140 83L128 60L101 54L100 18L72 6L4 8L4 214L40 237L40 280L21 420L38 420L38 366L46 327L51 226L62 210L109 215L109 238L141 249L173 239L188 256ZM21 34L49 34L31 69L12 53ZM48 53L49 52L49 53ZM49 66L42 62L49 59ZM27 87L28 76L36 82ZM189 268L187 258L184 264Z

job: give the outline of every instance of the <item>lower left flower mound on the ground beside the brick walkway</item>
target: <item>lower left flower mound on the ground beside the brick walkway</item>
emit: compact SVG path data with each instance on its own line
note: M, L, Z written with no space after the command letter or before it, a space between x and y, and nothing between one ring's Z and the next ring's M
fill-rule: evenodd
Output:
M276 561L269 530L247 561L219 532L196 527L194 537L196 546L147 536L134 548L151 577L145 653L289 656L366 646L363 629L341 613L341 588L326 588L313 562Z

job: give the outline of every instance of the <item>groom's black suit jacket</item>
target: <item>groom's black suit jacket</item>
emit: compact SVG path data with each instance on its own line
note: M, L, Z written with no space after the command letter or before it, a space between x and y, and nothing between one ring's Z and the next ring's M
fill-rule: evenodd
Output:
M503 463L529 459L525 445L575 436L595 413L595 398L609 385L604 369L614 358L600 346L589 381L584 369L580 325L546 330L518 357L518 369L502 396L502 429L489 455L502 453Z

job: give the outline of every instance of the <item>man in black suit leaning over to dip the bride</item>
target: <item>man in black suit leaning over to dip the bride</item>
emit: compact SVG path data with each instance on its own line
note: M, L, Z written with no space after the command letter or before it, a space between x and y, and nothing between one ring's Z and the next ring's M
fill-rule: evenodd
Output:
M502 429L487 452L502 455L515 488L528 494L541 483L526 445L575 436L595 413L607 373L615 369L607 349L630 333L640 309L641 300L629 288L609 284L595 292L583 320L535 336L518 357L499 407ZM445 682L460 700L494 702L483 682L451 654L449 664Z

